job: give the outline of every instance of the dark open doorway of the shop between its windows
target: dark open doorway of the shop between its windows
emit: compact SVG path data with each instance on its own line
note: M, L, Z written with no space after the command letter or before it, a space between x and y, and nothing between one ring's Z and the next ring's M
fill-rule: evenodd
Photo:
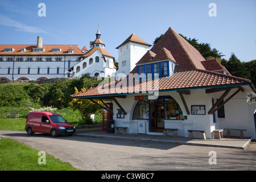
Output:
M150 131L163 133L164 129L164 105L154 102L150 105Z

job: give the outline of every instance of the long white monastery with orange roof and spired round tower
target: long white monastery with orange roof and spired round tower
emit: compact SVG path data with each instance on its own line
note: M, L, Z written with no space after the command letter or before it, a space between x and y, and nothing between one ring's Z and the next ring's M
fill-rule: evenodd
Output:
M114 77L114 57L105 49L98 28L90 50L78 45L0 44L0 80L43 80L56 77Z

